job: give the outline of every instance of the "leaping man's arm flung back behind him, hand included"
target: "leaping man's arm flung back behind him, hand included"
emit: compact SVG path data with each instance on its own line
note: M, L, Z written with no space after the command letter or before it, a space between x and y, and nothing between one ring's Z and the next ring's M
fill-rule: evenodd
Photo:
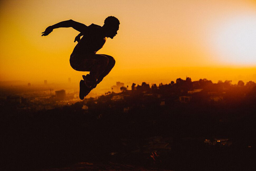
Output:
M85 32L87 30L86 25L84 25L82 23L75 22L73 20L67 20L67 21L59 22L55 25L47 27L45 29L45 31L42 32L43 33L42 36L46 36L46 35L50 34L54 28L60 28L60 27L72 27L79 32Z

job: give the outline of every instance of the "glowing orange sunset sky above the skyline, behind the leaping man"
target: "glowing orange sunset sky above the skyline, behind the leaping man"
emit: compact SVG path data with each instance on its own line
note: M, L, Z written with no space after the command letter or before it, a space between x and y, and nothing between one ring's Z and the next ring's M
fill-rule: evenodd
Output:
M72 28L41 32L72 19L103 25L120 20L100 54L116 59L101 84L207 78L256 82L256 3L246 0L3 0L0 1L0 79L31 83L82 79L69 65Z

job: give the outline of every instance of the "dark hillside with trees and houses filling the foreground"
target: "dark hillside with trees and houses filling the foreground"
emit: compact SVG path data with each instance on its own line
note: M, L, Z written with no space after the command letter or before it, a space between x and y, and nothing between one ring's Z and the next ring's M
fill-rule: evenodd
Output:
M254 82L189 78L36 112L2 100L1 167L255 170L255 104Z

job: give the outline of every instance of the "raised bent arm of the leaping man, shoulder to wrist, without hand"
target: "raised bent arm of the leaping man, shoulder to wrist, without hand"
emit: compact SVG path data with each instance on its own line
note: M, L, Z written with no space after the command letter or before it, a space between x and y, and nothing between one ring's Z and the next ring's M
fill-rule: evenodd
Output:
M75 30L77 30L79 32L85 32L86 29L87 29L86 25L84 25L82 23L75 22L73 20L67 20L67 21L59 22L55 25L52 25L51 27L52 27L52 29L60 28L60 27L72 27L72 28L74 28Z

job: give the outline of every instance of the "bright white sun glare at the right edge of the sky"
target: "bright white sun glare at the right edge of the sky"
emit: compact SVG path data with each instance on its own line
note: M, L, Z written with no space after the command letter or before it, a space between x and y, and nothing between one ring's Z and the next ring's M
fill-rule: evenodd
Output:
M234 17L214 35L220 62L228 65L256 65L256 17Z

